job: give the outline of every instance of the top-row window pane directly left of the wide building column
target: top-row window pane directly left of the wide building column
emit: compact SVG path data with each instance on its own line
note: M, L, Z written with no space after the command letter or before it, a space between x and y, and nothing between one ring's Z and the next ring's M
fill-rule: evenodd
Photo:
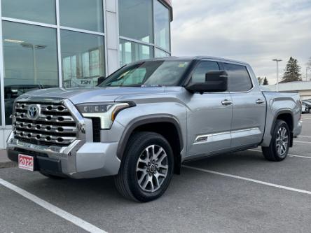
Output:
M60 0L60 24L103 32L102 0Z

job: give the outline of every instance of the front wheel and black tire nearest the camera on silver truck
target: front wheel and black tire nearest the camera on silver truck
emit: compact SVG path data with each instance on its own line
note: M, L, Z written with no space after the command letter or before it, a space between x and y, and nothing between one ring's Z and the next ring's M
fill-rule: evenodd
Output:
M173 166L172 148L162 135L134 133L127 143L119 173L114 178L116 188L127 199L151 202L167 190Z

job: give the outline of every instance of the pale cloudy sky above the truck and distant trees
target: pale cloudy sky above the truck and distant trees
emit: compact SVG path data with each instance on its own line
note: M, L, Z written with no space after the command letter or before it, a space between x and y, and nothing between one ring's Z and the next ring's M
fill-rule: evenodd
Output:
M276 82L289 57L305 80L311 57L311 0L174 0L172 55L211 55L248 62L256 76ZM311 78L311 70L308 71Z

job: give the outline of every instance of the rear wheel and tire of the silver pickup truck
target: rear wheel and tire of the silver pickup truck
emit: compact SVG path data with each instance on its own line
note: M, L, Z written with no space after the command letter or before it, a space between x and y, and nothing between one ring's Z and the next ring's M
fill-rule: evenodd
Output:
M289 153L290 140L289 126L284 120L277 120L272 132L270 146L261 148L265 159L276 162L284 160ZM281 144L278 143L279 141L281 141Z

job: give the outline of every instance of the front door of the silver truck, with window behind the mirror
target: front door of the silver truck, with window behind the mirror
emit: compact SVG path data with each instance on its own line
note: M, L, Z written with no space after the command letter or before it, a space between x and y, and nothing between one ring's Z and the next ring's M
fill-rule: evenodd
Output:
M205 73L219 70L214 61L202 61L191 82L205 82ZM230 148L233 105L229 92L191 94L187 102L187 157L221 153Z

